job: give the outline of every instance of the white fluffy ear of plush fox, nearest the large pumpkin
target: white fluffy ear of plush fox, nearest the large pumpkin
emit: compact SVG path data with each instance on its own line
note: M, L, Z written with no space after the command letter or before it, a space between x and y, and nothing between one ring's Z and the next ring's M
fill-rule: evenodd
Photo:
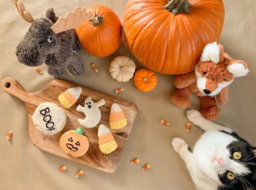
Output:
M200 60L205 61L213 61L215 64L220 61L220 49L217 42L208 43L203 48L203 53L200 57Z

